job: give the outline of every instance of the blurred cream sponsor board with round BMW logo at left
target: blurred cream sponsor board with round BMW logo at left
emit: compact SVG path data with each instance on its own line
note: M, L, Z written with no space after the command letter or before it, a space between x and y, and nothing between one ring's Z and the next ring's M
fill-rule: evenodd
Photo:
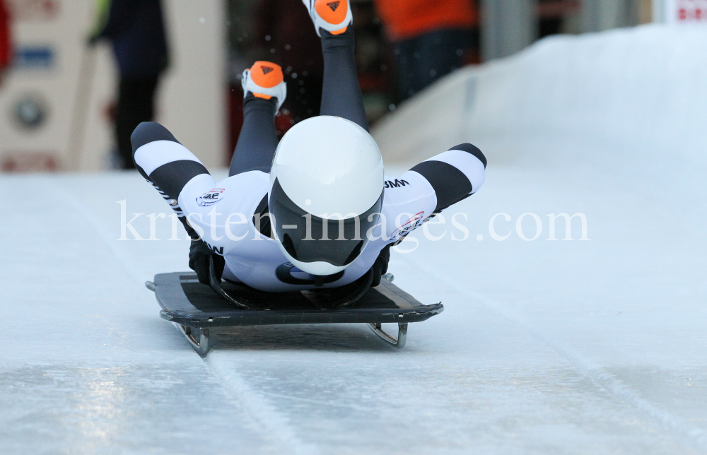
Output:
M13 66L0 90L0 173L111 165L115 69L86 47L95 0L10 0ZM226 165L223 0L163 0L171 66L156 120L206 167Z

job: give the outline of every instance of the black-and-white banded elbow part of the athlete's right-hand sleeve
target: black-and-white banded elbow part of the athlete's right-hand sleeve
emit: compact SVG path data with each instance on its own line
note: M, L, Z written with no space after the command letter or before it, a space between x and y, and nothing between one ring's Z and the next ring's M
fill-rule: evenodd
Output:
M462 143L421 162L417 172L432 186L437 196L434 213L479 191L486 178L486 157L479 148Z

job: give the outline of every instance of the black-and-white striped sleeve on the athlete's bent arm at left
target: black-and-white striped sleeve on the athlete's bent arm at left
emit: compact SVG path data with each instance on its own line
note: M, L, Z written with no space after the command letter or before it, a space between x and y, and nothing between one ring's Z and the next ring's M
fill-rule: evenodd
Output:
M213 187L214 179L209 171L168 129L156 122L139 124L130 140L137 170L170 204L189 237L199 238L187 223L188 214L180 207L180 194L194 177L201 176L200 179L208 181L204 182L206 186Z

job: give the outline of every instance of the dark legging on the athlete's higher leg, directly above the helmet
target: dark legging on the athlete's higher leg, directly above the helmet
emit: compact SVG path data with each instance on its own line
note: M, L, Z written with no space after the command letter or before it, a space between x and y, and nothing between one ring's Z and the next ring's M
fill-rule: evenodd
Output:
M368 131L363 96L358 85L354 62L354 28L332 35L320 30L324 52L324 84L321 115L335 115L351 120Z

